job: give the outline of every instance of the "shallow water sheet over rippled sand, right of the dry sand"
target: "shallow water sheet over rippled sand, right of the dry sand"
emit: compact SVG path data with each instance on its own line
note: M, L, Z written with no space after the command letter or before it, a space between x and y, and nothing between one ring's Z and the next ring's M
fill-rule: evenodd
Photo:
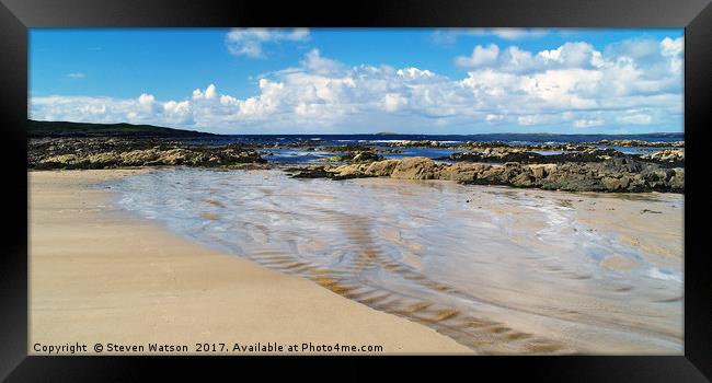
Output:
M122 207L174 232L482 353L682 351L679 195L635 200L190 169L126 177L115 188ZM608 230L616 228L608 218L593 216L605 206L669 230ZM641 216L643 208L662 213ZM667 252L624 241L633 234L661 235Z

